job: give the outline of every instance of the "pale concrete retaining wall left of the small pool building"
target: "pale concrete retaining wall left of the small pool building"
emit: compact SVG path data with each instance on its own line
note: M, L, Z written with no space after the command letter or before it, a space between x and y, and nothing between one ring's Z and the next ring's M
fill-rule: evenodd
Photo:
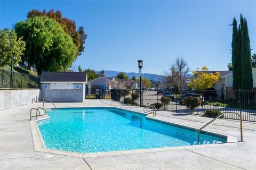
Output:
M40 89L0 90L0 111L35 103L40 98Z

